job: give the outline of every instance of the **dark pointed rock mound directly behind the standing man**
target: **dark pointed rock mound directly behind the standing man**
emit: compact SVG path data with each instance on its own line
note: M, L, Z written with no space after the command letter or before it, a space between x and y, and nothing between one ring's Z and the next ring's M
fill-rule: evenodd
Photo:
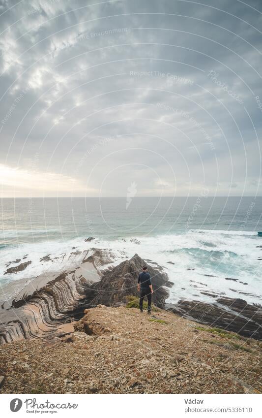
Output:
M112 270L105 272L101 281L94 283L87 291L87 304L90 307L99 304L115 306L118 302L128 302L127 296L139 297L137 278L143 265L145 265L145 260L135 254L130 260L125 260ZM152 302L164 308L168 291L163 289L163 286L166 286L168 276L149 265L147 271L151 276L154 290Z

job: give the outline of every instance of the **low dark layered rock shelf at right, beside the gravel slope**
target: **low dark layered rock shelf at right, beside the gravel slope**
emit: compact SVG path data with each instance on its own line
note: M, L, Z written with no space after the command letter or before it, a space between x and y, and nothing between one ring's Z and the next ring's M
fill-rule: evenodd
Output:
M167 308L185 318L262 340L261 305L249 305L243 299L221 297L214 304L179 300L176 305L169 304Z

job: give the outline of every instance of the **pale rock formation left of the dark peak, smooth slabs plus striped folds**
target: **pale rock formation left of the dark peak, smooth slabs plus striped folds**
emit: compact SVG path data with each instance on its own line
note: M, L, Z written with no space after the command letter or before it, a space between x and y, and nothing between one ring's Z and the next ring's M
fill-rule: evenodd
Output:
M109 252L96 250L95 260L100 266L108 264ZM99 274L85 260L72 271L36 277L15 299L1 305L0 344L72 332L73 322L81 318L86 306L87 290L100 280Z

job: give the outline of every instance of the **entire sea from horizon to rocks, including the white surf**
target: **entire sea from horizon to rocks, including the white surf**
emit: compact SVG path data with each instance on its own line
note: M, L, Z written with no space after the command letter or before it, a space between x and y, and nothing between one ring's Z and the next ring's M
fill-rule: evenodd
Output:
M2 199L0 299L15 296L38 275L76 267L81 251L102 248L114 253L113 265L137 253L163 267L174 283L167 302L213 302L213 292L261 304L261 208L262 197L204 193ZM85 242L88 237L95 239ZM10 261L9 267L31 263L4 274Z

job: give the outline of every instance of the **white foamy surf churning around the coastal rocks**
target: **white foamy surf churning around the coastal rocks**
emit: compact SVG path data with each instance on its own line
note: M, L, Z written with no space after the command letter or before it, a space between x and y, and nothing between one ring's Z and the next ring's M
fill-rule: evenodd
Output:
M257 246L262 245L262 239L255 235L257 233L248 231L189 230L156 237L136 236L140 241L139 245L126 237L124 240L97 238L91 242L85 242L83 237L79 237L68 241L9 246L1 250L0 280L28 280L42 273L66 270L81 263L83 257L72 256L72 251L96 247L111 249L116 255L114 265L135 253L161 265L174 282L174 286L169 289L170 297L167 302L175 303L181 298L213 302L211 296L202 293L211 291L242 298L249 303L261 303L261 265L258 257L262 256L262 252ZM72 247L76 249L72 250ZM26 254L27 258L23 259ZM48 254L53 261L39 261ZM3 275L6 270L5 264L17 258L21 258L20 262L32 262L22 272ZM17 264L10 264L10 267L15 265Z

